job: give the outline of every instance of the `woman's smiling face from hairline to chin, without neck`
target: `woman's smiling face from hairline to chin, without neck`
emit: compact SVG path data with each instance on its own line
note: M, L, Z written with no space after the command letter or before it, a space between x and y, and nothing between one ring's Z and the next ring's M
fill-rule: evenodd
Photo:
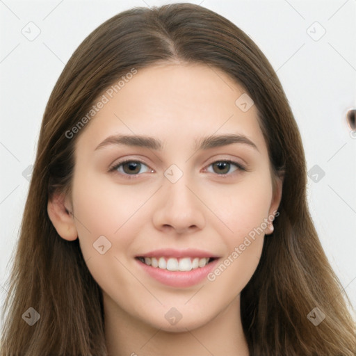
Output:
M236 105L243 93L203 65L149 67L106 95L77 139L74 224L118 316L199 327L252 277L280 196L257 108Z

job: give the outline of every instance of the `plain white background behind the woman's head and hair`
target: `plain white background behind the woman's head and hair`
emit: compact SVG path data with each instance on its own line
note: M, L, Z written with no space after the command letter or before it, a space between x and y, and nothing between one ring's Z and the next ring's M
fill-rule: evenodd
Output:
M0 1L1 305L29 188L23 172L35 159L44 107L65 63L113 15L173 2ZM327 257L356 308L356 138L346 123L346 111L356 106L356 1L187 2L234 22L277 71L300 127L308 170L318 165L325 172L318 182L309 179L309 206ZM40 29L33 41L22 34L28 26Z

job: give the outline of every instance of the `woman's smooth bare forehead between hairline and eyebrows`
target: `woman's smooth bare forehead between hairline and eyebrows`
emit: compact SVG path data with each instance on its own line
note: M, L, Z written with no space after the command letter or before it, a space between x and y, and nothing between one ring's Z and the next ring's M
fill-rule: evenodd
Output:
M264 145L257 108L247 102L250 108L241 110L247 93L221 70L196 64L156 65L115 84L97 98L104 95L106 104L79 140L94 145L115 133L131 133L185 145L200 136L240 133Z

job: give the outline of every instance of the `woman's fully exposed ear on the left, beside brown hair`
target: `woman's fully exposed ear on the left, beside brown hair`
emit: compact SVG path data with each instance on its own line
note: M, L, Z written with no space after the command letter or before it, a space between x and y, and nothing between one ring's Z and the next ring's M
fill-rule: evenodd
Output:
M47 204L47 212L58 235L67 241L74 241L78 232L74 225L72 204L64 193L54 194Z

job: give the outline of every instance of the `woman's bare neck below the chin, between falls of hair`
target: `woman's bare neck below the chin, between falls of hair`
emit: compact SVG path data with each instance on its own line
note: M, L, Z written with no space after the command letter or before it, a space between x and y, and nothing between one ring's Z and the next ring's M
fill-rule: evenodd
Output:
M167 332L124 312L104 293L108 356L249 356L240 296L215 318L185 332Z

